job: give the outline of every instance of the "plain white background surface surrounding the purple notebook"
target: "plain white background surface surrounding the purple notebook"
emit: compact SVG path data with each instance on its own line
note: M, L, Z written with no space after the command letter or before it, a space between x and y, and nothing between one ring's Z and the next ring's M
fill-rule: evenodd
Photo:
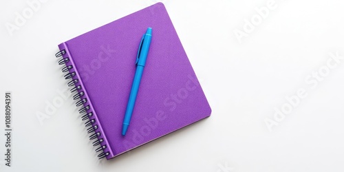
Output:
M6 24L30 1L0 1L0 171L344 171L344 60L326 71L330 53L344 56L343 1L276 0L241 43L235 31L268 0L163 1L212 115L109 161L96 158L72 98L43 125L36 114L67 88L58 43L156 1L51 0L11 36ZM323 80L306 83L319 69ZM276 122L275 108L299 89L307 96L270 131L264 120ZM6 91L11 167L3 161Z

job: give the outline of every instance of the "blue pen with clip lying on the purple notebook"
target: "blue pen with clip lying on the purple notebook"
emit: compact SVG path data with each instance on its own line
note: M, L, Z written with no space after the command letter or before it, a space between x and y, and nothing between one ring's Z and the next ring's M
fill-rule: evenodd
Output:
M122 135L125 136L129 127L131 114L133 114L133 107L135 106L136 96L138 95L138 87L142 77L144 64L148 56L149 45L151 45L151 28L142 36L140 47L138 48L138 56L136 57L136 72L133 78L133 85L129 95L127 111L125 111L125 119L123 120Z

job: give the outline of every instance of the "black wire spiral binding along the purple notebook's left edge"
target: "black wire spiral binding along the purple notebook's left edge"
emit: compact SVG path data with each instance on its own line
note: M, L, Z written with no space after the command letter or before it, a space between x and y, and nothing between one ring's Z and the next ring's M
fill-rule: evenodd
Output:
M65 50L61 50L55 54L56 58L61 57L61 59L58 61L58 65L64 65L67 62L69 62L69 57L63 57L63 54L66 54ZM76 92L76 94L73 96L73 99L74 100L80 99L76 102L76 107L83 105L83 107L81 109L79 109L79 113L84 114L85 112L87 112L90 109L90 107L89 107L89 105L87 105L87 98L83 98L83 96L85 96L85 93L83 92L81 85L77 85L79 82L78 78L74 78L74 76L76 76L76 72L71 72L70 69L73 69L73 66L66 64L65 67L63 67L61 69L61 71L64 73L67 72L67 74L65 74L65 76L64 76L64 78L66 80L72 79L67 83L67 85L69 87L72 87L72 89L70 89L70 92L72 92L72 93ZM98 129L98 125L94 125L94 123L96 122L96 119L92 118L92 116L93 116L93 112L91 111L91 112L88 112L87 114L83 115L81 117L81 119L87 120L87 122L85 122L85 126L88 127L87 133L94 132L91 136L89 136L89 140L96 139L92 143L93 146L96 147L96 146L100 145L100 143L103 142L104 139L103 138L98 139L98 137L101 136L101 133L100 133L100 131L96 131ZM98 147L96 149L96 152L102 151L98 155L99 159L105 158L107 155L109 155L109 152L104 151L104 149L106 149L106 148L107 148L107 145L103 144L103 145L100 145L100 147Z

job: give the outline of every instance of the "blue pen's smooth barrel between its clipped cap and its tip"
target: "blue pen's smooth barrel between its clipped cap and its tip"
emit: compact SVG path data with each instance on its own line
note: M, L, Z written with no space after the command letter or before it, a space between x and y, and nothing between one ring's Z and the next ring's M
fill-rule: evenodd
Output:
M133 107L135 107L136 97L138 96L138 88L140 86L143 69L144 67L140 65L136 67L135 76L133 78L133 85L131 86L131 92L129 95L127 110L125 111L125 119L123 120L123 123L127 125L129 125L131 115L133 114Z

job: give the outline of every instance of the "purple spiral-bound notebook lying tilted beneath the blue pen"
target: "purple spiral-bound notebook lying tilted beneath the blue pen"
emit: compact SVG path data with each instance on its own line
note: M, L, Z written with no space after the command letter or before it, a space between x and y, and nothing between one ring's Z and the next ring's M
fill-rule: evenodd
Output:
M151 47L126 136L122 122L142 35ZM114 158L211 115L211 107L162 3L144 8L58 45L63 72L99 147Z

